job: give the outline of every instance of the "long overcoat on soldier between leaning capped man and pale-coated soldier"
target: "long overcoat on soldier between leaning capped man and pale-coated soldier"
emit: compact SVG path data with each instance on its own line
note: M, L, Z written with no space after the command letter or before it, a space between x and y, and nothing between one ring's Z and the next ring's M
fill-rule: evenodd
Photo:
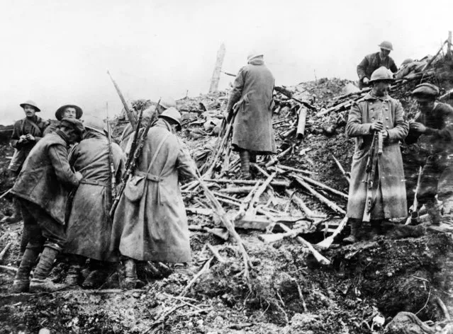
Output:
M112 143L112 155L118 184L123 171L124 154L115 143ZM110 251L111 171L106 136L89 132L88 137L70 152L69 163L84 178L72 200L65 253L115 261L117 259Z

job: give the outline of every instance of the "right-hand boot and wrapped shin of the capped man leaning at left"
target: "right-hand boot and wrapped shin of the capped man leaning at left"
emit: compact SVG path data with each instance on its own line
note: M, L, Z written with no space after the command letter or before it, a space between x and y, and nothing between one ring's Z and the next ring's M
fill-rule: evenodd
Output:
M35 272L33 272L30 292L54 292L67 287L66 284L54 283L49 278L53 263L59 252L60 250L45 246L39 263L36 265Z

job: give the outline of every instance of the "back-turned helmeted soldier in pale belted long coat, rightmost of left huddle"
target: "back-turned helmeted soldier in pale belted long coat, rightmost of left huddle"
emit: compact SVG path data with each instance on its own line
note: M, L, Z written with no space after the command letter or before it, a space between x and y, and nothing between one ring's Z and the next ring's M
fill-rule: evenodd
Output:
M138 282L135 261L188 263L189 228L179 181L191 178L195 163L176 135L181 114L168 108L147 134L135 175L113 218L112 248L124 257L125 287Z

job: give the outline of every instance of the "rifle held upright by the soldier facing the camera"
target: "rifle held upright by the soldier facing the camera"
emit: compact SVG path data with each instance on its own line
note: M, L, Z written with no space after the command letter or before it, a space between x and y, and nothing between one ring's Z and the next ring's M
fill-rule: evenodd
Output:
M382 110L380 111L377 122L381 121ZM382 154L382 132L376 131L373 135L373 140L371 141L371 146L368 152L367 159L367 181L365 181L365 186L367 188L367 196L365 197L365 209L364 216L362 221L369 222L371 219L371 209L373 209L375 201L373 200L373 186L374 186L374 176L376 175L376 164L379 160L379 156ZM379 191L379 183L376 188L376 192ZM375 199L376 200L376 199Z

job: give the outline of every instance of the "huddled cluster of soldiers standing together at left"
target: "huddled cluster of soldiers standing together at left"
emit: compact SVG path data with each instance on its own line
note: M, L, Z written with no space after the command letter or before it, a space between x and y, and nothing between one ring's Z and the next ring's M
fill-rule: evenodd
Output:
M11 292L50 292L77 286L82 278L82 287L99 287L120 260L123 287L131 289L140 284L137 266L147 261L184 267L191 260L179 181L192 178L196 167L176 135L181 114L174 100L143 111L146 128L126 127L121 146L130 149L130 142L141 140L129 171L125 151L99 117L82 122L82 108L63 105L50 125L36 115L40 109L33 101L21 107L26 117L14 125L10 169L16 174L11 193L23 218L22 258ZM126 172L128 182L111 214L112 190ZM60 253L69 269L64 282L55 283L49 276ZM89 273L82 277L85 265Z

